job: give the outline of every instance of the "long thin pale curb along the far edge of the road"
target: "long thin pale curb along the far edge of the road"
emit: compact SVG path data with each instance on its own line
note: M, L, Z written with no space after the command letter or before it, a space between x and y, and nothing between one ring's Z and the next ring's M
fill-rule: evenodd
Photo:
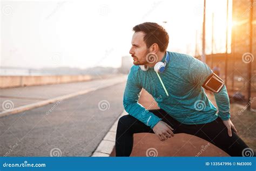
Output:
M39 107L47 105L47 104L56 103L56 102L59 102L59 101L63 101L64 99L68 99L68 98L79 96L79 95L84 95L88 92L96 91L98 89L102 89L102 88L106 88L106 87L110 87L110 86L115 86L116 84L120 84L120 83L122 83L122 82L114 83L114 84L104 86L104 87L100 87L100 88L90 88L90 89L87 89L87 90L73 92L73 93L68 94L68 95L58 96L58 97L55 97L55 98L46 99L44 101L19 106L17 108L12 109L12 110L6 110L6 111L0 112L0 117L16 114L16 113L19 113L19 112L24 112L24 111L34 109L34 108L39 108Z

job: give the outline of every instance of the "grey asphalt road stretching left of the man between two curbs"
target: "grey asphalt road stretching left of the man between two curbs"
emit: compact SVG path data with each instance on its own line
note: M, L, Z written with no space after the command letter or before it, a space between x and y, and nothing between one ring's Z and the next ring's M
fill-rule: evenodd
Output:
M90 156L123 112L125 83L0 117L1 156Z

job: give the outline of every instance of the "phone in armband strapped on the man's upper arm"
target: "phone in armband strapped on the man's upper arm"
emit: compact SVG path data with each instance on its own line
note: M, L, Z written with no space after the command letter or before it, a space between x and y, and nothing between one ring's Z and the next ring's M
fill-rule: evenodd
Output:
M218 75L212 73L204 82L203 88L206 90L210 90L212 92L220 92L220 90L224 87L225 83L220 79Z

